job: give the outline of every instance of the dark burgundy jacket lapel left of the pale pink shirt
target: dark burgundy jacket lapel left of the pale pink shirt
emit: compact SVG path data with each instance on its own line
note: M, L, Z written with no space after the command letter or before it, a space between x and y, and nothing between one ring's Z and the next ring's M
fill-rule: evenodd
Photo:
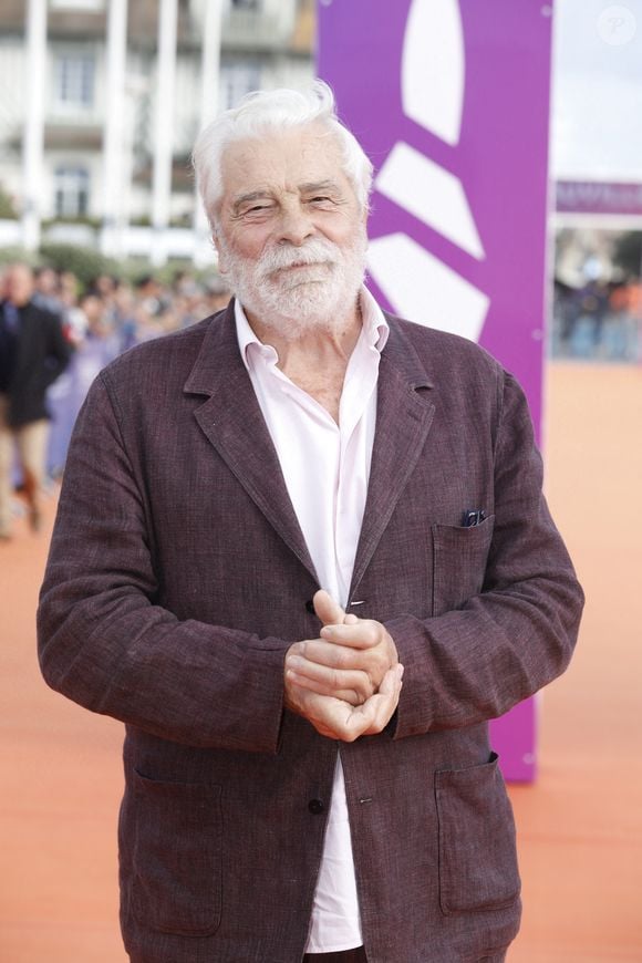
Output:
M277 452L240 356L234 301L218 320L210 322L184 392L207 395L195 411L201 431L318 582Z

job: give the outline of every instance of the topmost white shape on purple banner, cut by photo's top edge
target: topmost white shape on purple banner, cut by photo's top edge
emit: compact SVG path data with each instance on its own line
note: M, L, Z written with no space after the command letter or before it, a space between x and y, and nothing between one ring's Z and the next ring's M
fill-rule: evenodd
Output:
M457 144L465 86L464 31L457 0L413 0L401 81L406 117L446 144Z

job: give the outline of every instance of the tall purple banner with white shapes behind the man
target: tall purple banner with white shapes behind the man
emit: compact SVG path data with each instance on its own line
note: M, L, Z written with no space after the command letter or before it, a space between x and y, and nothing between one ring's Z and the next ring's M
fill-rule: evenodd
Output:
M370 287L403 317L483 344L539 433L551 4L319 0L319 75L376 173ZM531 702L494 724L534 777Z

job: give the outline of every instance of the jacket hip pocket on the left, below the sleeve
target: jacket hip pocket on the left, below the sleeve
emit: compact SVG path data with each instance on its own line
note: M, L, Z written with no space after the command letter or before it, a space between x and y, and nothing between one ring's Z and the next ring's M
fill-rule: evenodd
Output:
M221 914L221 787L134 773L132 910L153 930L207 935Z

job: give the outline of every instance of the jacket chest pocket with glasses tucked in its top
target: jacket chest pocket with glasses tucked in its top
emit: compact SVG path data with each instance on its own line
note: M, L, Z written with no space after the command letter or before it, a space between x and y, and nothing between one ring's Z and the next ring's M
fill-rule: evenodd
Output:
M433 615L460 608L484 584L495 516L470 528L433 525Z

